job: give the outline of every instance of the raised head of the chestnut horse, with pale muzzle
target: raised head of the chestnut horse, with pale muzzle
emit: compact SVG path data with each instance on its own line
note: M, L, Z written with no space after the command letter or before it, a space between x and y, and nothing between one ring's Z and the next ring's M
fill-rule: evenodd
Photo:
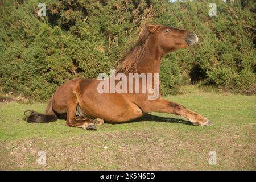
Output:
M146 28L151 32L152 38L163 54L192 46L198 42L197 35L187 30L162 25L147 25Z

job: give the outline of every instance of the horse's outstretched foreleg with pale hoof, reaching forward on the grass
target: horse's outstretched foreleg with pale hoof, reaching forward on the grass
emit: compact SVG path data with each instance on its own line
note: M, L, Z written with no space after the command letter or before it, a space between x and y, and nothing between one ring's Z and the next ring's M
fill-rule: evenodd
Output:
M150 107L152 111L160 113L171 113L180 115L181 117L187 118L193 125L209 126L210 122L207 118L202 117L200 114L194 111L186 109L183 105L175 102L170 102L163 98L158 100L151 100Z

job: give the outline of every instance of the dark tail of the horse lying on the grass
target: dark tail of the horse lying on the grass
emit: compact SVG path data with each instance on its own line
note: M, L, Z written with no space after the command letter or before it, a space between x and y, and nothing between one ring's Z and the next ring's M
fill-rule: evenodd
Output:
M30 112L30 115L26 115L27 112ZM24 120L28 123L48 123L57 120L57 115L52 110L52 99L49 101L48 106L46 107L46 114L40 114L34 110L26 110L24 112Z

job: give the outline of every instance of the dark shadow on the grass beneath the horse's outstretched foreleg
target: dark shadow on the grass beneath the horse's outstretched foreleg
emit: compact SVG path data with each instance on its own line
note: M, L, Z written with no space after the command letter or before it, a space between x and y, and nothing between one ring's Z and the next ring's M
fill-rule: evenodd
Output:
M184 119L177 119L177 118L167 118L167 117L160 117L157 115L152 114L145 114L140 118L134 119L130 122L140 122L140 121L155 121L155 122L167 122L167 123L182 123L184 125L193 125L191 122L186 121Z

